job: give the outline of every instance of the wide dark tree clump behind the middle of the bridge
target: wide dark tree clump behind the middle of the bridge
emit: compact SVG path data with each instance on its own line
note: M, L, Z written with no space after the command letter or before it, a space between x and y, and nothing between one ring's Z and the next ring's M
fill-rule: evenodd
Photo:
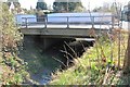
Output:
M80 0L77 0L76 2L75 0L73 2L69 2L69 0L64 0L64 2L55 0L53 2L54 12L78 12L79 10L84 10Z

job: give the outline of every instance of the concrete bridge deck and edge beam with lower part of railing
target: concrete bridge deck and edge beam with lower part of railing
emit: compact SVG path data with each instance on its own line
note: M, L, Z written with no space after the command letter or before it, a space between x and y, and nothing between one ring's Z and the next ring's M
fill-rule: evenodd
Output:
M114 28L116 25L114 23L114 16L112 15L110 15L112 21L108 21L108 22L107 21L95 22L94 16L92 17L91 22L88 22L88 21L70 22L69 21L70 17L72 16L66 16L66 20L65 21L62 20L62 22L54 22L54 21L51 22L51 18L49 21L49 17L42 17L44 18L43 22L28 22L28 18L32 18L32 17L23 17L24 23L22 24L22 26L20 26L20 28L24 35L42 35L48 37L84 37L86 38L86 37L92 36L91 28L95 30L94 32L95 34L100 34L101 32L110 30L110 28ZM88 17L88 16L84 16L84 17Z

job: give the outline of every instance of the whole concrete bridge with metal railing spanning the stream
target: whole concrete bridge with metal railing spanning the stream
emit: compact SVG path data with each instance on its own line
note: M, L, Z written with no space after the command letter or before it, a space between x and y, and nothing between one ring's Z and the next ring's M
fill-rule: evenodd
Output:
M53 38L88 38L102 32L110 32L115 28L116 21L112 14L100 15L55 15L49 14L44 17L22 17L20 29L25 36L40 36L43 49L48 49L57 42ZM51 39L50 39L51 38ZM60 40L60 39L58 39Z

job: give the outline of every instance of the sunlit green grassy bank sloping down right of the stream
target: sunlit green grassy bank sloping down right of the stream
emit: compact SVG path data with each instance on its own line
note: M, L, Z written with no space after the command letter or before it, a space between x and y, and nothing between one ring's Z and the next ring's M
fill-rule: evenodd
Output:
M120 40L120 67L122 67L127 48L128 35L121 33ZM93 47L89 48L81 58L75 59L75 65L53 75L51 85L121 85L126 77L118 74L118 34L113 40L107 36L96 39ZM110 70L108 73L106 69ZM106 78L106 79L105 79ZM116 82L115 82L116 80ZM128 79L127 79L128 80ZM126 83L129 84L129 83Z

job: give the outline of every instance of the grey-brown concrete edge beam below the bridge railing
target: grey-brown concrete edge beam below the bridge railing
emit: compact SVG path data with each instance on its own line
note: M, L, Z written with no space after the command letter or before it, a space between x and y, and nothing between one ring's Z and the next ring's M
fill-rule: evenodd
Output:
M107 33L108 29L90 29L90 28L21 28L24 35L41 35L51 38L88 38L100 33Z

